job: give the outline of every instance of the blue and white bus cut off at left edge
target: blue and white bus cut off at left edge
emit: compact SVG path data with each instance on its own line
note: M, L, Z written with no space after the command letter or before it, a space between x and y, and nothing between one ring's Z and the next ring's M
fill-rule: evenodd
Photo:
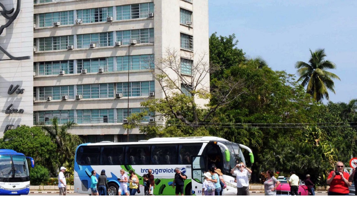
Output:
M30 173L27 160L31 167L35 161L10 149L0 149L0 195L22 195L30 192Z

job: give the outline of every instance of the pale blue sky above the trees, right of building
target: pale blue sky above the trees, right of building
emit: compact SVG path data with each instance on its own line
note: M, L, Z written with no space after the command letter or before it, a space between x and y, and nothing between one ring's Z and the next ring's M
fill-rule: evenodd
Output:
M330 101L357 98L357 1L209 0L209 32L233 33L246 57L263 58L275 71L296 74L297 61L308 62L309 49L325 49L336 64ZM327 100L324 99L324 103Z

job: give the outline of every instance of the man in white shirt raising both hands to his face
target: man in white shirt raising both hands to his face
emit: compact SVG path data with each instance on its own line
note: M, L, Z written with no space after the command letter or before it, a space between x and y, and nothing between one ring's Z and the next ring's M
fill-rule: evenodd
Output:
M236 168L239 168L236 170ZM252 171L247 168L243 162L237 164L231 170L231 174L236 176L237 179L237 195L250 195L249 193L249 176Z

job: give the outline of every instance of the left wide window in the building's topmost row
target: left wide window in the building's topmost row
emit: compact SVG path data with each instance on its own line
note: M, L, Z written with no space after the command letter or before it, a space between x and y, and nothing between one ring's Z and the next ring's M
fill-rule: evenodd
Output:
M61 25L73 24L73 10L63 12L50 12L39 14L40 27L51 27L53 22L61 22Z

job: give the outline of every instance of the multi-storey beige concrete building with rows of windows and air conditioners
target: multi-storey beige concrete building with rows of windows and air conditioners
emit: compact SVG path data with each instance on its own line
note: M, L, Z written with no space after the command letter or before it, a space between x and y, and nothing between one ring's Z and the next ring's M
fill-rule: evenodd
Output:
M143 110L141 101L163 97L152 74L160 64L150 61L175 49L188 77L194 54L207 53L208 62L208 0L33 2L31 124L50 124L56 116L75 121L70 132L89 142L145 139L122 125L128 113ZM209 75L204 82L209 88Z

